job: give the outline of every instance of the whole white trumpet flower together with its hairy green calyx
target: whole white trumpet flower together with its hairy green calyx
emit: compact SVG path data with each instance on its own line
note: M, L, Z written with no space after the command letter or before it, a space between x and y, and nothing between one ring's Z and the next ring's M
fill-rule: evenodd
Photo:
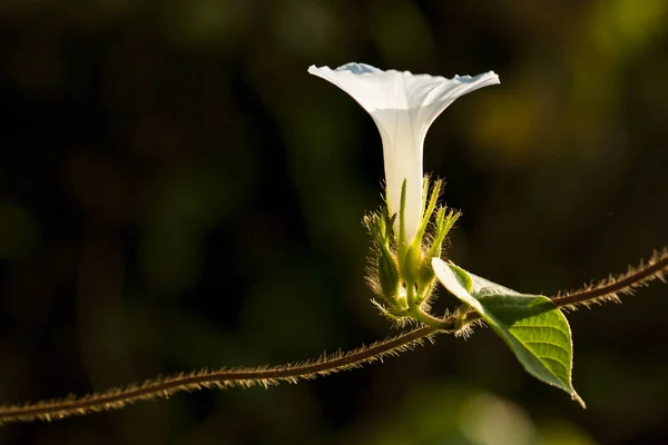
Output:
M376 305L399 320L438 324L428 314L435 284L431 259L441 256L459 212L438 206L441 181L434 181L430 192L429 180L423 179L424 139L432 122L456 98L499 83L499 77L490 71L446 79L383 71L364 63L334 70L311 67L308 72L347 92L371 115L381 134L386 207L364 218L374 243L369 281L377 295Z

